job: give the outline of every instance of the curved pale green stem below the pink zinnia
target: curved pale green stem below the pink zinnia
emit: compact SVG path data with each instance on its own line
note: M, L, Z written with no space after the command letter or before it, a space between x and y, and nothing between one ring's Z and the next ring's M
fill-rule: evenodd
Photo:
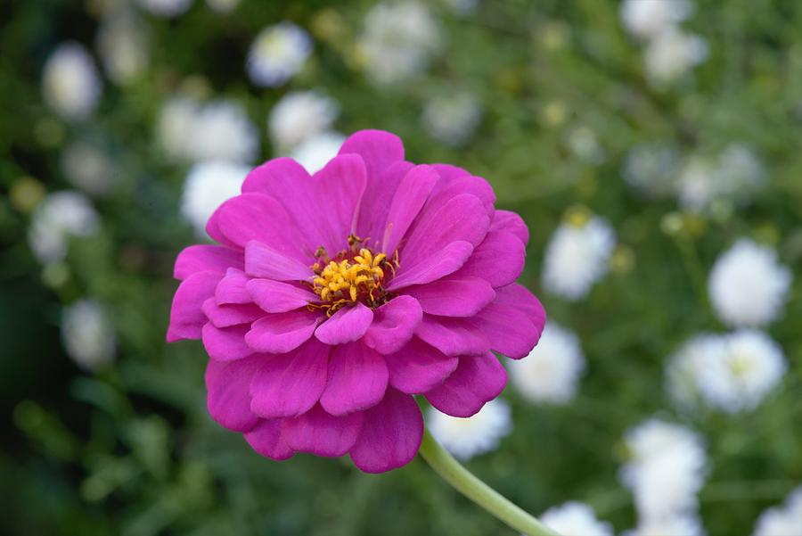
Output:
M528 515L520 507L504 499L498 491L480 481L440 446L426 429L423 431L420 453L431 468L446 482L454 486L456 491L485 508L516 531L523 532L528 536L559 536L537 521L535 517Z

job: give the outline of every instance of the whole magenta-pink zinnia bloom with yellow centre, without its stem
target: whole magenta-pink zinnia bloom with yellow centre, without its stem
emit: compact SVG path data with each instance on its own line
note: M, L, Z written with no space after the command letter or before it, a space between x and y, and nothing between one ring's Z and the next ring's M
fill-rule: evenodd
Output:
M207 225L219 245L178 255L168 341L202 339L209 413L268 458L339 457L379 473L421 445L413 395L471 416L545 322L515 279L527 227L487 181L404 160L357 132L309 176L254 169Z

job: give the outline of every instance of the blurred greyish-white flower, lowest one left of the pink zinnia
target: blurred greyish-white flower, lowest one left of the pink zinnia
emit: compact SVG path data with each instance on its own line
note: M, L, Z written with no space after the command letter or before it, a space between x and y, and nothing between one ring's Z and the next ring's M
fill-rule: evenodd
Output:
M117 345L114 328L92 300L79 300L64 309L61 341L70 358L89 370L110 362Z

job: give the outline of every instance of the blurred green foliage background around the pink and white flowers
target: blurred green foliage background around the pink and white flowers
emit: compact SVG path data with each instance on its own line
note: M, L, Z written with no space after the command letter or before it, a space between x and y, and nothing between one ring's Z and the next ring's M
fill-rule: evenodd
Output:
M532 235L521 283L577 333L587 362L565 405L532 404L509 386L512 433L467 462L528 511L577 499L616 532L635 526L618 479L622 438L651 416L705 438L708 534L748 533L802 482L802 4L697 0L681 26L705 40L704 58L666 76L650 71L659 59L611 0L419 4L430 28L398 21L389 46L408 46L405 31L430 31L415 37L428 59L390 81L371 74L371 2L243 0L225 12L225 2L194 0L169 17L160 4L172 3L0 4L0 532L511 533L419 459L380 475L346 459L274 463L209 419L201 343L164 342L172 262L198 241L180 208L191 162L170 158L158 136L175 95L241 105L258 135L258 156L242 163L255 165L284 151L266 126L274 105L315 88L339 103L332 128L391 130L408 159L487 177L498 206L520 212ZM115 60L98 59L111 46L99 31L119 12L142 39L131 46L146 51L124 77L109 74ZM260 87L246 58L259 31L280 21L307 31L313 48L291 79ZM79 120L43 97L45 62L65 41L84 45L103 78L99 102ZM458 95L470 105L457 106L456 119L438 116ZM461 112L470 120L460 123ZM76 189L64 163L75 141L110 162L110 186L87 193L94 232L43 261L29 244L32 214L45 194ZM749 199L689 207L633 185L634 148L659 147L681 167L732 144L761 162L765 184ZM561 221L588 211L610 222L618 245L610 274L567 301L543 288L544 250ZM743 236L775 248L793 271L782 316L766 328L789 370L754 411L680 414L663 389L667 356L693 334L724 331L706 278ZM114 357L98 366L79 367L63 348L62 309L81 299L102 304L113 326Z

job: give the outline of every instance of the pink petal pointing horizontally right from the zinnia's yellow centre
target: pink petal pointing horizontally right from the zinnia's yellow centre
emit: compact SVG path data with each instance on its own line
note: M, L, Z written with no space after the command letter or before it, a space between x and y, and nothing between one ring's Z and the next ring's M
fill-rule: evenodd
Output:
M493 287L481 277L454 274L404 293L419 301L423 312L443 317L472 317L495 299Z

